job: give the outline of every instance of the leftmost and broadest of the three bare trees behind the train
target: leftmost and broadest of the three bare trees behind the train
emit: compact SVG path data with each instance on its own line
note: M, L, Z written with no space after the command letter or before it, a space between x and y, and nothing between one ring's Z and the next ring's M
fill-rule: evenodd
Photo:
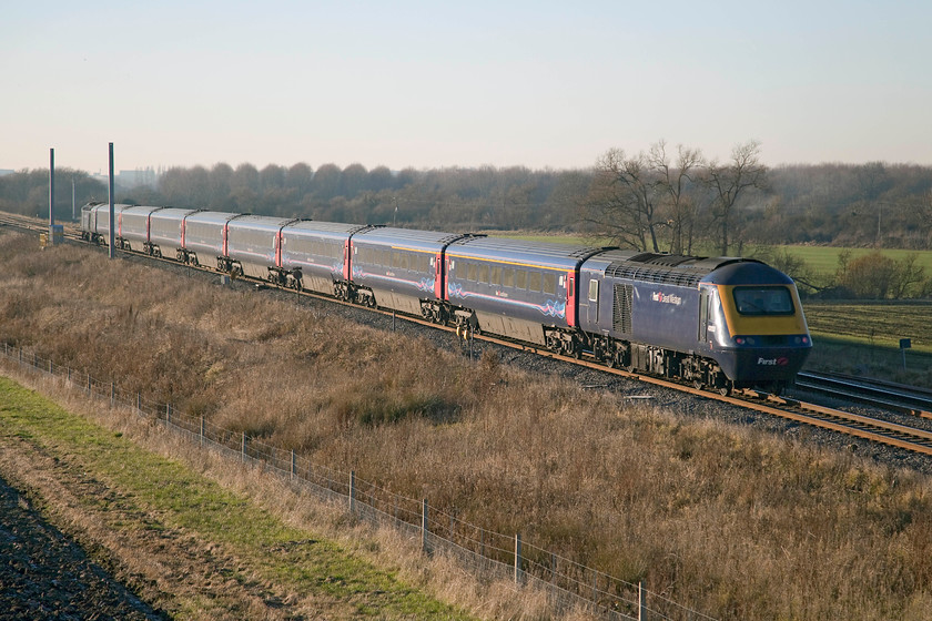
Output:
M658 175L647 155L627 157L610 149L596 162L595 177L582 203L582 220L597 235L635 250L660 252L657 228Z

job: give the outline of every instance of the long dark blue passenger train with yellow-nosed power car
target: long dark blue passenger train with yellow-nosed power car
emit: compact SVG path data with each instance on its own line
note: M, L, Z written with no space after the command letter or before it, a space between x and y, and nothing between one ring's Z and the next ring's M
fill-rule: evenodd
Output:
M812 347L793 281L753 258L114 205L114 245L591 357L728 395L776 394ZM110 205L81 210L108 244Z

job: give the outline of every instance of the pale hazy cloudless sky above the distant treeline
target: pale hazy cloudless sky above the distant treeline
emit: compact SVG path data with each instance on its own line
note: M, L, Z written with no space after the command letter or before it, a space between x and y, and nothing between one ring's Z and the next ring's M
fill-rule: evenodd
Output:
M929 0L3 4L0 169L932 164Z

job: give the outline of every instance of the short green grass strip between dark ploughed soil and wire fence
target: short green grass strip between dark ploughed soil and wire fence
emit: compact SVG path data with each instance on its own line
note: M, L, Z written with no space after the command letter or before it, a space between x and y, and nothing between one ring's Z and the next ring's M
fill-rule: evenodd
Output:
M55 404L0 377L0 445L26 440L38 450L67 461L115 491L85 496L89 510L107 510L119 501L128 515L149 516L123 520L133 529L182 529L202 544L224 544L243 567L295 592L322 593L345 601L365 599L359 615L378 618L466 618L427 597L391 572L288 527L244 497L201 477L176 461L144 451L122 437L71 415ZM151 516L159 516L152 521ZM300 544L296 544L300 542ZM272 553L274 551L274 553ZM245 580L245 578L244 578ZM196 601L179 609L196 615Z

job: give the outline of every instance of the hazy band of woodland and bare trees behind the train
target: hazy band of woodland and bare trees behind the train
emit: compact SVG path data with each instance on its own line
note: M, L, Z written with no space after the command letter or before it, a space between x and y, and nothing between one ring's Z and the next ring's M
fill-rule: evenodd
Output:
M55 212L105 201L105 184L59 170ZM48 170L0 177L0 210L48 216ZM727 161L658 142L610 150L588 170L366 170L300 163L170 169L116 202L444 231L591 235L655 252L740 254L744 244L932 250L932 167L872 162L767 167L760 145Z

